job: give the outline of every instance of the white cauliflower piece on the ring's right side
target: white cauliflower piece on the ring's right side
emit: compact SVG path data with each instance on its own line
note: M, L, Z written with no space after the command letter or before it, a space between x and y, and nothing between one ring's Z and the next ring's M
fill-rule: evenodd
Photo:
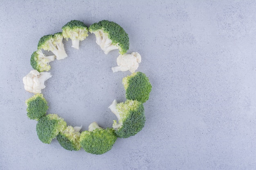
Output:
M113 73L117 71L130 71L134 73L135 70L139 67L139 63L141 62L141 56L137 52L133 52L131 54L119 55L117 57L117 65L116 67L112 67Z

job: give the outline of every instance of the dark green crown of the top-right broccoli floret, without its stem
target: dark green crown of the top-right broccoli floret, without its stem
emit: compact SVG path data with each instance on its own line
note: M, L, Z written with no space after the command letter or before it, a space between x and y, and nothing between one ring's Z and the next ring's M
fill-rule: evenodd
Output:
M129 50L129 36L124 31L124 29L117 23L102 20L98 23L94 23L89 27L91 33L98 31L103 31L108 39L112 40L113 45L118 45L120 47L120 54L124 54Z

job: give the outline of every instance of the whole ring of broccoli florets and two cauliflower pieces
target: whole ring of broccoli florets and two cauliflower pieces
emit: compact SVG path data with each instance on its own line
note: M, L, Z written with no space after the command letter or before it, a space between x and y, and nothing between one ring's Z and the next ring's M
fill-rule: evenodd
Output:
M26 91L34 96L26 100L27 117L38 121L36 132L38 139L45 144L50 144L57 139L66 150L80 150L100 155L109 151L117 138L128 138L137 134L145 124L144 106L148 100L151 84L148 77L141 72L135 72L141 62L137 52L126 54L129 49L129 37L124 29L115 22L102 20L87 27L83 22L72 20L62 27L62 32L54 35L45 35L40 38L37 51L32 53L30 64L33 70L23 77ZM71 39L72 47L79 49L79 42L85 40L88 33L94 33L96 43L108 54L118 49L117 65L112 67L113 72L130 71L132 74L123 78L122 83L126 91L126 101L112 102L109 109L117 116L112 128L101 128L96 122L88 130L80 132L82 126L67 126L63 118L56 114L47 114L48 105L41 94L45 88L45 81L52 77L49 71L49 62L63 60L67 57L63 39ZM46 56L43 51L51 51L53 55Z

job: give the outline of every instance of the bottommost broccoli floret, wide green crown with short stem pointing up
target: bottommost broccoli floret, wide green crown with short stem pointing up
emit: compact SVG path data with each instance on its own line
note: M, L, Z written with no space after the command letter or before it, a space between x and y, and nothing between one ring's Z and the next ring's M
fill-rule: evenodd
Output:
M88 153L101 155L108 152L115 144L117 136L112 128L100 128L96 122L83 131L80 136L81 147Z

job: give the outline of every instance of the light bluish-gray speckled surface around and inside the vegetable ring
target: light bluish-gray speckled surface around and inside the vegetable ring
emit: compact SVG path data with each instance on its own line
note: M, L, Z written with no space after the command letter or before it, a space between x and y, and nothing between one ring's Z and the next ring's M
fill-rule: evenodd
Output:
M256 2L254 0L2 1L0 5L1 170L253 170L256 168ZM41 36L70 20L120 24L137 51L137 71L153 86L146 124L91 155L43 144L26 115L22 77ZM90 34L51 63L43 94L48 113L88 130L110 127L113 99L125 101L112 73L118 51L105 55Z

